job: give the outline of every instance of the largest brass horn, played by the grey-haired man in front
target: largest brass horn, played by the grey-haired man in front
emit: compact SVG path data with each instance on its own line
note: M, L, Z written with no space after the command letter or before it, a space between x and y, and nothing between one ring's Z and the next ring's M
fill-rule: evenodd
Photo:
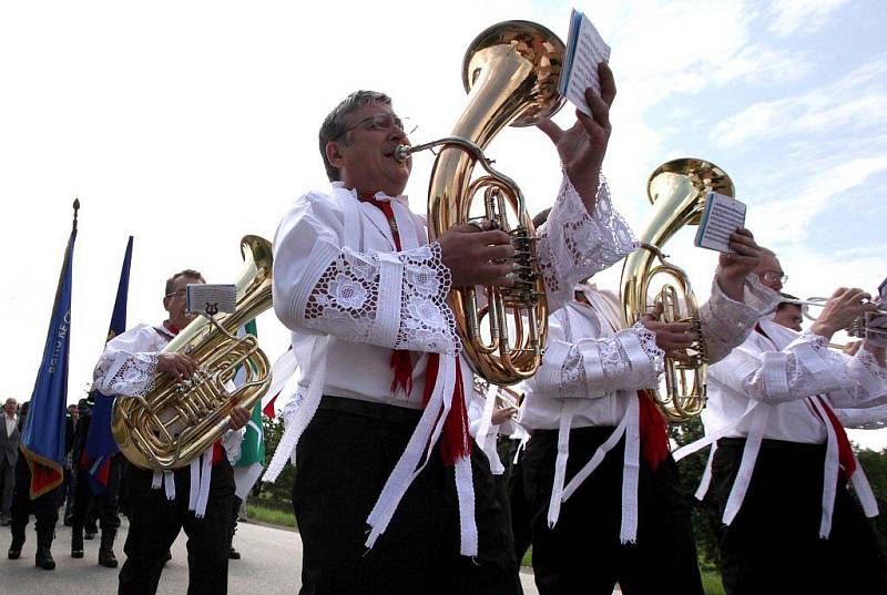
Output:
M482 193L483 218L507 232L517 249L516 281L510 288L475 287L450 291L450 307L465 353L475 370L496 384L519 382L542 361L548 329L544 284L536 261L536 230L523 194L497 172L483 148L504 126L529 126L553 115L563 104L558 93L564 47L554 33L528 21L506 21L480 33L465 54L462 81L468 106L450 136L417 146L402 145L396 156L442 147L428 192L428 234L434 240L450 227L470 220L471 202ZM476 164L487 172L473 182ZM507 206L517 213L512 226ZM486 305L479 301L486 301ZM489 318L489 341L481 320ZM510 317L510 318L509 318ZM509 337L510 327L514 336Z

